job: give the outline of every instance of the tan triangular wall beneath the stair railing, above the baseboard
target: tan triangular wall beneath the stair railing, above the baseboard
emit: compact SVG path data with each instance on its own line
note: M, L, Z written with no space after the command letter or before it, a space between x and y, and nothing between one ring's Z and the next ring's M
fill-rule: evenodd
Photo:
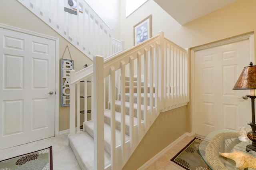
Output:
M187 106L160 113L123 170L136 170L186 133Z

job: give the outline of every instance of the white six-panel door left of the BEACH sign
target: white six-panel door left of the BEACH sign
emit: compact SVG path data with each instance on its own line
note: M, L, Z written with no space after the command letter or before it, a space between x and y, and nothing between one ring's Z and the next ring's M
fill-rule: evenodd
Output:
M0 28L0 149L55 135L55 42Z

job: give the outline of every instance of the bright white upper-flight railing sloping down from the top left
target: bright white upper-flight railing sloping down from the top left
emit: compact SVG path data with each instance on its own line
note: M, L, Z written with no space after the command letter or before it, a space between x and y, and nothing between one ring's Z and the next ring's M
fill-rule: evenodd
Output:
M124 42L114 39L114 30L105 24L85 0L73 0L78 7L70 7L68 0L17 1L90 59L96 55L108 57L124 49ZM77 15L65 12L64 8L74 10Z

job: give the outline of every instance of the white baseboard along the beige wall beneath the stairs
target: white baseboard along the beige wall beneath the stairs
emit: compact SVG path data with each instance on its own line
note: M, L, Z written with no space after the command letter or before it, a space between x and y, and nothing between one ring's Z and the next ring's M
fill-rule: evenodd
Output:
M158 152L158 154L156 154L153 158L151 158L150 160L148 160L148 162L146 162L144 165L142 165L140 168L138 168L138 170L146 170L147 168L149 168L154 162L156 162L156 160L158 160L159 158L161 158L170 148L172 148L173 146L175 146L176 144L178 144L180 141L182 141L186 136L192 136L192 133L186 132L184 133L182 136L180 136L178 139L176 139L174 142L172 142L171 144L169 144L168 146L166 146L166 148L164 148L163 150L161 150L160 152Z

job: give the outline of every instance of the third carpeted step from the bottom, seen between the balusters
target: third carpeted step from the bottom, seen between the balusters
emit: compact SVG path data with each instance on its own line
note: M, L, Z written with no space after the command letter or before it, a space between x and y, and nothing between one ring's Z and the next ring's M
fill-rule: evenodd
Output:
M110 125L110 122L111 122L110 120L111 120L110 109L106 109L104 110L104 122ZM137 125L136 117L134 117L134 125ZM130 134L129 126L130 126L130 116L125 115L125 133L127 135ZM121 113L120 112L116 112L116 129L121 130Z

